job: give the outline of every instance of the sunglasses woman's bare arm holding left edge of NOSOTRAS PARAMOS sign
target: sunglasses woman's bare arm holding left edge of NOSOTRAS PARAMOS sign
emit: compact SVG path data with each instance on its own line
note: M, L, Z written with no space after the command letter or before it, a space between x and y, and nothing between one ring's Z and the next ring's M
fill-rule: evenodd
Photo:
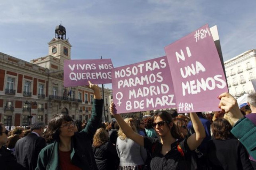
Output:
M140 146L144 147L144 138L143 138L143 136L134 132L132 130L132 128L128 124L125 123L123 118L119 114L116 114L116 109L115 109L115 105L114 105L113 102L111 103L109 109L110 109L110 113L116 118L116 121L117 121L118 125L123 130L126 137L132 139L134 142L136 142Z

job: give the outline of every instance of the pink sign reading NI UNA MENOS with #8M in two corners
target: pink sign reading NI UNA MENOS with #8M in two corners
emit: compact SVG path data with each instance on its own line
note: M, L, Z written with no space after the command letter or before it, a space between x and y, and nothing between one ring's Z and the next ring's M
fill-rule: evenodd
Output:
M217 111L228 91L208 25L165 47L179 113Z

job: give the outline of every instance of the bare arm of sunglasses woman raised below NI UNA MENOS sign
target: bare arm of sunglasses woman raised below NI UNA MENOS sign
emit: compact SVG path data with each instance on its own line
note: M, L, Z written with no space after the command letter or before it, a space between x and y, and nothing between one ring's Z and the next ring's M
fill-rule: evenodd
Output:
M187 140L188 147L190 150L196 149L205 138L205 129L202 122L196 113L190 113L191 122L195 133L193 133Z

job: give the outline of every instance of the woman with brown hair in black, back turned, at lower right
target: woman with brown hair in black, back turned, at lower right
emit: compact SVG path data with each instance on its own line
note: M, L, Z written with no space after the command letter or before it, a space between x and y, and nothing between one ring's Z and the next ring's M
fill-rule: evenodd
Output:
M213 139L207 142L206 155L210 170L253 170L249 155L242 143L231 133L232 128L225 118L217 118L213 121Z

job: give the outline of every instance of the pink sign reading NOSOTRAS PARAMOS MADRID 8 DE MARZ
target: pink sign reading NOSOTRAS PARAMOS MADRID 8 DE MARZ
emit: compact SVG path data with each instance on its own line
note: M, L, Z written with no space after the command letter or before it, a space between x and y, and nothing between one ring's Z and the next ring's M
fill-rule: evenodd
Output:
M176 107L166 56L117 67L111 73L117 113Z

